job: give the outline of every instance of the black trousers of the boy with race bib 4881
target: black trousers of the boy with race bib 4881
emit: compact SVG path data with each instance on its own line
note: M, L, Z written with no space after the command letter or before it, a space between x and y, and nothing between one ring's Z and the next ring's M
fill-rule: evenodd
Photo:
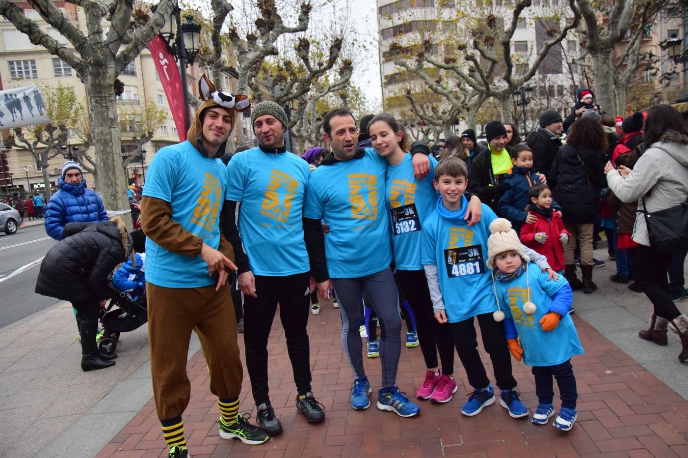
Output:
M485 367L480 360L480 353L477 351L477 334L475 333L475 320L473 317L449 323L451 335L456 345L461 363L469 376L469 383L475 389L483 389L490 385L487 378ZM495 321L491 313L477 315L477 322L480 324L480 334L482 334L482 344L492 360L493 371L497 379L497 387L501 390L514 389L516 380L511 374L511 354L506 345L504 335L504 324Z

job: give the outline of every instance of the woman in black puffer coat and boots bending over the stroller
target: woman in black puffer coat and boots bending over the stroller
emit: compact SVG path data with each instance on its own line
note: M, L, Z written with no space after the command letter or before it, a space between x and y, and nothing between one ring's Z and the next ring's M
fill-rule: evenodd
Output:
M120 218L104 222L70 222L63 240L47 252L36 281L36 293L72 302L81 336L81 369L104 369L117 355L98 352L98 317L112 295L109 275L131 255L133 239ZM144 239L143 239L144 240Z

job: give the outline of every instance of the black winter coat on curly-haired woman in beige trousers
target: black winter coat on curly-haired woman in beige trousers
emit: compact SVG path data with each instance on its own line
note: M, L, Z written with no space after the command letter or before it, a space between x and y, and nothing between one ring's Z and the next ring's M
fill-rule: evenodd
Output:
M592 148L565 145L557 153L547 183L566 224L594 222L595 201L605 187L605 162L604 152Z

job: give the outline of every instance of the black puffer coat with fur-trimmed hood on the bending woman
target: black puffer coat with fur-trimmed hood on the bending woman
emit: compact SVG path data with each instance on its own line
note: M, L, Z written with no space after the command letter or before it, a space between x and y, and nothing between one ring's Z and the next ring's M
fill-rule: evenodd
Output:
M119 218L71 222L41 262L36 293L70 302L107 299L113 294L108 276L129 253L129 234Z

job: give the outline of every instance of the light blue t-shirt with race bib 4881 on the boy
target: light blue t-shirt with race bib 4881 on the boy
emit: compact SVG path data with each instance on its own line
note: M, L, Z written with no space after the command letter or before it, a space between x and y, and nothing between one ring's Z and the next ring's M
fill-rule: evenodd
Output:
M440 211L449 211L437 201ZM492 277L487 268L487 238L490 223L497 219L490 207L482 204L480 222L471 227L464 220L468 201L462 196L462 207L454 218L440 215L436 208L423 220L420 261L437 266L440 292L449 323L464 321L477 314L497 310Z

